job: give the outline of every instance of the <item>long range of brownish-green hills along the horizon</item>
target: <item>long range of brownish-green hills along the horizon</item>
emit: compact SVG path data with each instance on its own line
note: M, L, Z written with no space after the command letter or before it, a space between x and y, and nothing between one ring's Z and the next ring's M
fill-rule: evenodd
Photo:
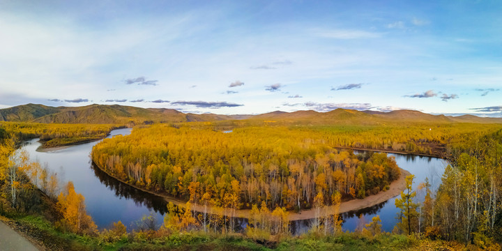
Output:
M502 123L502 118L478 116L444 116L425 114L413 110L392 112L334 109L330 112L312 110L297 112L275 111L259 115L185 114L176 109L140 108L123 105L87 105L83 107L49 107L27 104L0 109L0 121L38 123L114 123L148 124L192 121L226 121L250 119L251 121L282 121L299 124L360 124L385 123Z

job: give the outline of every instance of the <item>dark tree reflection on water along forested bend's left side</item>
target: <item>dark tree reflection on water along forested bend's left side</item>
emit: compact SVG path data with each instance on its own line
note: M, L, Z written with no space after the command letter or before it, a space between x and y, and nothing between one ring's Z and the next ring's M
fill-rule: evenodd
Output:
M102 172L101 169L96 167L92 163L91 168L99 178L102 184L104 184L109 190L115 192L116 197L132 199L135 201L136 206L146 206L150 210L156 213L164 214L167 212L167 201L160 196L152 195L148 192L133 188L130 185L118 181L116 178L109 176L107 173Z

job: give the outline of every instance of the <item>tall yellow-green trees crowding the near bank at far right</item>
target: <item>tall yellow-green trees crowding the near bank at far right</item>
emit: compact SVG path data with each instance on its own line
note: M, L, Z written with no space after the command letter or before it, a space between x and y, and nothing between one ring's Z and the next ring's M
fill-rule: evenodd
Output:
M397 232L474 243L496 250L502 241L502 130L467 138L452 151L438 190L429 179L396 199ZM424 199L416 199L423 192Z

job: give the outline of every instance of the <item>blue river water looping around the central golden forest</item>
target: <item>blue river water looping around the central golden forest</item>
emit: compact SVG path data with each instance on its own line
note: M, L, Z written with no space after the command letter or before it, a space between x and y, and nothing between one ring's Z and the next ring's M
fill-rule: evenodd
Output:
M114 135L129 135L130 128L113 130L109 137ZM109 177L97 167L93 167L90 153L92 147L98 142L90 142L70 146L54 151L36 151L40 146L38 139L26 141L22 149L26 150L31 160L37 160L43 165L56 172L62 183L73 181L75 190L85 197L86 210L99 228L109 228L112 222L121 222L128 230L135 228L136 222L144 215L153 215L162 224L162 215L166 211L166 202L158 196L151 195L141 190L125 185L116 179ZM355 153L363 153L355 151ZM416 178L413 188L429 177L432 185L439 185L446 162L439 158L422 157L416 155L403 155L388 153L395 156L397 165L406 169ZM418 192L418 197L423 197ZM358 215L363 215L363 221L370 222L374 215L380 215L383 230L392 231L397 222L395 216L397 208L395 198L382 204L365 208L356 212L344 213L344 230L353 231L358 225ZM245 226L245 221L240 225ZM306 231L310 226L310 220L298 220L291 222L291 227L296 233Z

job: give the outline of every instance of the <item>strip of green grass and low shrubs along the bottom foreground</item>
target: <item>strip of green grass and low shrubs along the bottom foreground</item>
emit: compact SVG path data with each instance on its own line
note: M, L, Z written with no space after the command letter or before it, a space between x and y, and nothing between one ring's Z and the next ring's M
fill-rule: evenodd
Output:
M279 241L259 243L239 234L204 234L200 231L155 236L155 232L133 232L117 238L81 236L60 231L41 216L14 216L4 221L47 250L476 250L457 242L431 241L417 236L379 234L337 236L305 234L277 237ZM474 248L474 249L472 249Z

